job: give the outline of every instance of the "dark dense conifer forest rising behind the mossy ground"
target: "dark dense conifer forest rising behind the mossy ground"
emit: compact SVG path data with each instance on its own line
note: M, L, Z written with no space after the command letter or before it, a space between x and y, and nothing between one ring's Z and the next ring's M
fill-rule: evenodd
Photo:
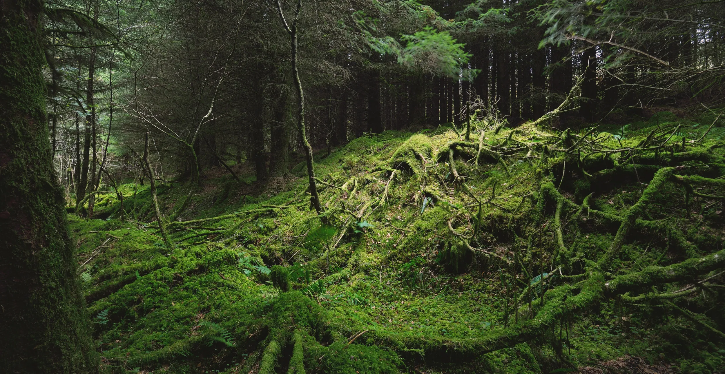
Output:
M62 13L47 26L49 125L69 199L82 201L108 171L140 175L147 131L162 179L198 178L207 167L248 162L265 181L286 173L290 152L301 152L289 36L275 3L57 7L75 9L101 28L69 30ZM460 124L471 104L474 110L491 105L518 125L558 107L576 77L582 78L579 108L550 125L624 124L657 107L721 100L719 2L304 7L299 72L315 149L363 133ZM94 197L88 200L92 216Z

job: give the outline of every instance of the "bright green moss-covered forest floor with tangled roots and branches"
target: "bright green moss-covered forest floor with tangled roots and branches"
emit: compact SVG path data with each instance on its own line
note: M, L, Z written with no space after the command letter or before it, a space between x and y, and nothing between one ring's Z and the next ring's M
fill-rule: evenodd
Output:
M550 304L587 291L572 290L658 170L705 168L721 180L713 144L725 128L708 129L713 120L660 112L579 136L478 122L470 142L465 126L363 136L316 155L323 216L310 210L304 163L266 187L245 165L241 182L210 170L178 222L165 223L173 248L147 184L120 187L125 220L105 191L102 219L69 216L102 370L724 373L719 285L672 302L642 293L704 283L602 291L547 317ZM677 183L647 192L646 227L633 225L602 276L722 251L712 184L689 197ZM187 192L162 183L162 212Z

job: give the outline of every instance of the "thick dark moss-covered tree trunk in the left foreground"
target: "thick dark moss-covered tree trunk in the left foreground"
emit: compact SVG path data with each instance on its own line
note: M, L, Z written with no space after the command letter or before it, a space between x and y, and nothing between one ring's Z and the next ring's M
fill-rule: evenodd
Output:
M96 373L46 126L43 1L0 1L0 372Z

